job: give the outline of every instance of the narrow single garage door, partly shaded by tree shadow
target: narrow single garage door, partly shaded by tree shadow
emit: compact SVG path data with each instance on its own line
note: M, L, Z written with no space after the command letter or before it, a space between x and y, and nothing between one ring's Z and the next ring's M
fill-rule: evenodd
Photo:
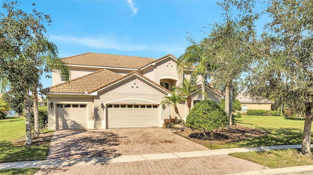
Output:
M56 129L87 128L87 104L56 104Z

